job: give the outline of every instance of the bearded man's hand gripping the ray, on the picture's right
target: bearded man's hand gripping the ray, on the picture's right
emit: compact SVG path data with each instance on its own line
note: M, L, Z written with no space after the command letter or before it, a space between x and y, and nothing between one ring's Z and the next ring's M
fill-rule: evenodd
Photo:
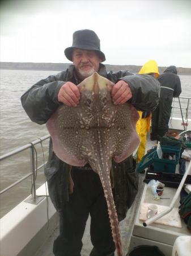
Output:
M120 80L114 84L112 89L112 98L115 105L124 104L132 97L131 89L127 82Z

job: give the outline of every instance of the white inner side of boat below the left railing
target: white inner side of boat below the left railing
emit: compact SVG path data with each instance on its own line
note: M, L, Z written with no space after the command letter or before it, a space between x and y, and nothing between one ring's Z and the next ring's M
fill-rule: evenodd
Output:
M46 195L45 184L36 192L37 195ZM24 200L3 216L0 220L1 255L34 255L58 225L58 213L49 197L48 215L49 227L47 229L47 201L44 197L37 205L26 203Z

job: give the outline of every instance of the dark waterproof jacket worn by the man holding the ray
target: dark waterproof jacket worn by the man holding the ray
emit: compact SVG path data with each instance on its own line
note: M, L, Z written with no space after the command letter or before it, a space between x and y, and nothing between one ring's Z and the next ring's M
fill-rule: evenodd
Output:
M133 75L128 71L107 72L100 64L99 75L116 83L118 80L128 82L133 97L129 101L138 110L152 111L159 101L160 84L149 75ZM29 118L40 125L46 123L58 106L58 92L63 84L71 81L79 84L74 75L74 65L66 71L49 76L33 85L21 97L22 105ZM66 117L67 118L67 117ZM132 156L121 163L113 162L114 171L114 201L116 203L119 221L125 218L128 208L134 201L138 191L138 176ZM54 154L52 139L50 139L49 159L45 166L45 176L48 181L49 195L54 207L62 211L63 205L69 200L69 166Z

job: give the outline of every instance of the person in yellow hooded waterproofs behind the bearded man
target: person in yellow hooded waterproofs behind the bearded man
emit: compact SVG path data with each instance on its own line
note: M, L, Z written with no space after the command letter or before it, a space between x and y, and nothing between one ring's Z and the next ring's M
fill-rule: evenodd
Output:
M138 74L152 75L155 78L159 76L158 64L155 60L149 60L143 65ZM137 151L137 163L145 155L147 131L150 131L151 112L138 111L139 119L137 121L136 130L140 138L140 144Z

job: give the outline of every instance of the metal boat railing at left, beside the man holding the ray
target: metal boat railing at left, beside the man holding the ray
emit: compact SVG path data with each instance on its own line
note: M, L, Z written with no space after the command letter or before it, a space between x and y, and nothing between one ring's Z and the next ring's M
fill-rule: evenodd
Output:
M46 141L47 139L49 139L50 136L46 135L44 137L41 137L39 139L36 139L36 141L33 141L31 143L28 143L22 147L16 148L15 150L12 150L11 152L0 156L0 163L2 162L2 160L5 160L7 158L10 158L13 155L19 154L20 152L23 152L24 150L28 150L30 149L30 168L31 168L31 172L29 172L29 174L25 175L24 177L22 177L21 179L15 181L15 183L12 183L11 185L9 185L8 187L6 187L5 189L3 189L2 191L0 191L0 195L2 195L3 193L9 191L9 189L15 187L16 185L18 185L20 182L22 182L23 180L26 180L29 176L32 176L32 196L31 196L31 203L33 204L37 204L39 203L38 198L36 196L36 185L35 185L35 180L36 180L36 172L44 167L45 163L41 164L40 166L35 166L35 146L39 143L42 143L43 141Z

